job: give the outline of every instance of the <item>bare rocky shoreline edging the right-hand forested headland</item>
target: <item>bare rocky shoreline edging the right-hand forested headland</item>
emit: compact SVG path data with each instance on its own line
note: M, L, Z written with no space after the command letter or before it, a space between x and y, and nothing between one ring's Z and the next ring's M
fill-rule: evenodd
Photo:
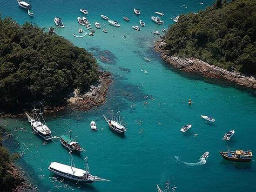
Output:
M163 49L164 45L164 40L157 41L155 44L155 50L161 53L163 60L179 70L201 74L204 77L226 79L235 82L238 85L256 89L256 79L254 77L247 77L241 73L230 72L226 69L210 65L196 58L168 56L168 53Z

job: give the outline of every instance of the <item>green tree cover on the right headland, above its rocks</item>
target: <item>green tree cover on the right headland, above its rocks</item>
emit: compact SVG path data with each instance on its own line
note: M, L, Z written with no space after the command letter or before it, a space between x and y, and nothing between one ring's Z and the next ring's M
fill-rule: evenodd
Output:
M217 0L198 14L181 15L164 39L170 55L256 75L256 0Z

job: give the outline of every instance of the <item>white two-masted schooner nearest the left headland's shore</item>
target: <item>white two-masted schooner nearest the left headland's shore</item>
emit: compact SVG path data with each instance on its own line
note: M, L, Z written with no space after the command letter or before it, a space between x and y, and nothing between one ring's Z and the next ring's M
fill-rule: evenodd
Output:
M46 125L46 122L43 118L43 113L37 114L37 109L33 109L33 115L32 117L25 113L27 115L27 120L31 124L31 127L33 129L33 132L38 134L40 137L42 137L45 140L53 139L52 132L49 129L49 127ZM43 123L40 121L43 120Z

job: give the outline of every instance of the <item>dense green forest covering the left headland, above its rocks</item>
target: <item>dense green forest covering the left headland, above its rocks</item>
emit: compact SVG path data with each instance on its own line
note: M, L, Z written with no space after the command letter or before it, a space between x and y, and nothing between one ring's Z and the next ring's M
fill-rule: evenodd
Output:
M83 48L32 24L0 19L0 109L63 104L74 88L87 91L98 78L96 60Z

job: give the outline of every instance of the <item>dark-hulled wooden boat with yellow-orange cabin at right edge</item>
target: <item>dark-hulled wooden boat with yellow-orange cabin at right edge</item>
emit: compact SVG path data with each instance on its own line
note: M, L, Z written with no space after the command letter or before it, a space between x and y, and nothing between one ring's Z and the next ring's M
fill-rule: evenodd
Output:
M236 150L227 152L220 152L223 159L235 162L250 162L252 159L252 152L250 150L243 151L243 150Z

